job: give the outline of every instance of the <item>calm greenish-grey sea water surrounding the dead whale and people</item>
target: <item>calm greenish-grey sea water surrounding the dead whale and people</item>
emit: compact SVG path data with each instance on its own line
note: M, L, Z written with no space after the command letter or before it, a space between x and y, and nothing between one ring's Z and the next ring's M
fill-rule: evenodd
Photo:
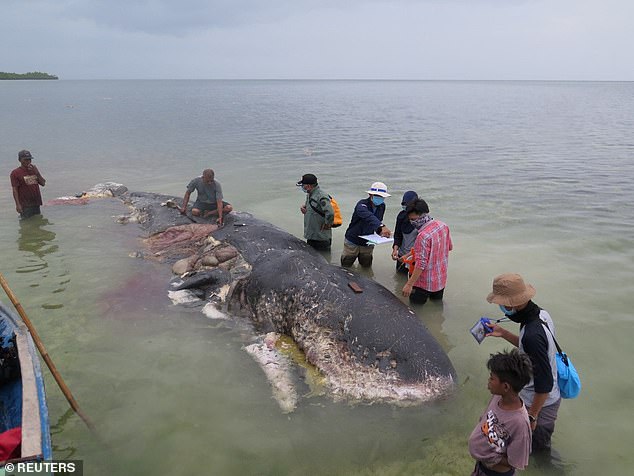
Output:
M554 437L566 474L629 474L632 131L634 83L0 82L1 272L105 442L47 375L55 457L84 460L86 475L469 474L485 363L508 347L478 346L469 328L499 314L485 300L493 277L519 272L583 380ZM117 201L18 221L8 176L23 148L45 201L105 181L182 195L212 167L236 209L299 237L303 173L344 220L376 180L393 194L389 224L418 191L454 240L444 304L416 311L456 367L455 396L408 409L307 396L281 414L245 332L171 305L170 270L129 257L139 230L115 223ZM371 275L400 292L388 248Z

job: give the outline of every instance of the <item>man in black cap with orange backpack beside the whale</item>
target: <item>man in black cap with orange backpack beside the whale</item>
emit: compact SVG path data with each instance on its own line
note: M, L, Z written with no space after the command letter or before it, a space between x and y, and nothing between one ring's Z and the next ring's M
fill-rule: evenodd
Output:
M302 175L296 184L306 194L306 202L299 207L304 215L304 238L316 250L328 251L332 244L332 223L335 212L330 197L324 193L313 174Z

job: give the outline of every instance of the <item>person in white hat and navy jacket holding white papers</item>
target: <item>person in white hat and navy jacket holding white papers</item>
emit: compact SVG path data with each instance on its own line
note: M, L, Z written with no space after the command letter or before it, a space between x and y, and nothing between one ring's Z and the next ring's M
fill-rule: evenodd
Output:
M374 182L367 191L368 198L359 200L354 207L354 213L350 219L350 225L346 230L341 253L341 266L350 267L359 258L359 264L363 267L372 266L372 246L361 235L377 233L386 238L392 236L390 229L383 224L385 214L385 198L389 197L387 185L383 182Z

